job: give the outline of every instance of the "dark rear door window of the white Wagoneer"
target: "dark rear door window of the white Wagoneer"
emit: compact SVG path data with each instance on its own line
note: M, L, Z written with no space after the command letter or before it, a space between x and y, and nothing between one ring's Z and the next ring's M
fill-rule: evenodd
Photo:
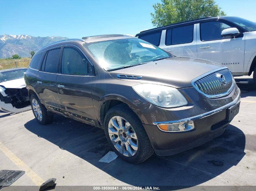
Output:
M166 45L191 43L194 36L194 25L166 30Z

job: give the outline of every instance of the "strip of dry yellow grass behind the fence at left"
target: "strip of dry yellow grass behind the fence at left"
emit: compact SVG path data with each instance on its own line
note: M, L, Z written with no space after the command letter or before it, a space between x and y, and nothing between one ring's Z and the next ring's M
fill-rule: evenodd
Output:
M20 59L15 59L17 67L25 67L28 68L29 62L31 58L25 57L25 58L20 58ZM23 61L23 60L28 60L28 61ZM17 61L23 61L23 62L17 62ZM8 64L2 64L6 62L12 62ZM12 58L1 58L0 59L0 70L4 69L9 69L9 68L16 68L15 62Z

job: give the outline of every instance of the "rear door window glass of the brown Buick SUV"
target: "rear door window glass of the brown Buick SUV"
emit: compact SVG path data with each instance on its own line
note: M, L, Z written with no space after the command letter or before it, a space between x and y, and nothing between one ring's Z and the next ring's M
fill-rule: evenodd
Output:
M46 59L44 60L44 63L42 65L42 71L57 73L60 51L60 48L48 51Z

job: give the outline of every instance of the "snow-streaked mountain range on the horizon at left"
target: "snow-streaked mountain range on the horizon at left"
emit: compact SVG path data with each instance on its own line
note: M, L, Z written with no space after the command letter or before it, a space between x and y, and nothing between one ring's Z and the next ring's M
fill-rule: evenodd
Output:
M30 57L31 51L36 53L42 46L63 39L68 38L3 34L0 35L0 58L9 58L14 54L18 54L20 57Z

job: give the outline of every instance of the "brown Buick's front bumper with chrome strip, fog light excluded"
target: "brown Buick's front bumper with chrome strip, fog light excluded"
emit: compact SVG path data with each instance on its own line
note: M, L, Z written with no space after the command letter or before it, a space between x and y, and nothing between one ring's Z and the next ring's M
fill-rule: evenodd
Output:
M238 89L239 90L239 89ZM175 121L154 122L155 125L143 124L157 155L168 156L202 145L221 135L231 122L227 119L228 108L240 102L241 92L230 103L209 112ZM159 124L194 122L194 129L183 132L164 132L157 128Z

